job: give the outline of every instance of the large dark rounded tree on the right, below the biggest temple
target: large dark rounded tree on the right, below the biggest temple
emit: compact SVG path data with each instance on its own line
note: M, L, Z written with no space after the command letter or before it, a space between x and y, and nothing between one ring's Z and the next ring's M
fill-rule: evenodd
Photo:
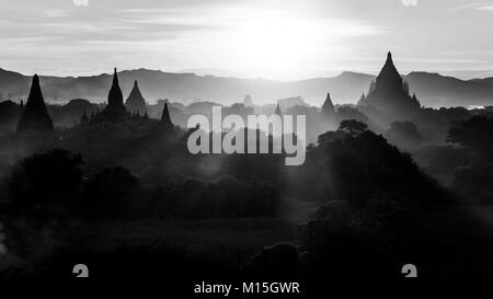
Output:
M339 134L320 138L334 198L365 206L376 194L393 200L437 203L440 189L422 174L410 154L356 120L343 122Z

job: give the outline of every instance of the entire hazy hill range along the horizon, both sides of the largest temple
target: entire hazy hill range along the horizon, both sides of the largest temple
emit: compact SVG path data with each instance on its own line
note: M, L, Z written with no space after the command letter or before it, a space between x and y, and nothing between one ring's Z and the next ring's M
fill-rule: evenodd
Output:
M159 70L125 70L118 73L126 97L134 81L149 103L159 99L192 103L210 101L221 104L242 102L246 94L254 104L275 103L279 99L301 96L308 104L321 106L330 92L334 104L356 103L368 91L375 76L343 72L333 78L314 78L300 81L273 81L264 79L238 79L194 73L170 73ZM426 106L493 105L493 78L459 80L438 73L411 72L404 79L411 92ZM48 103L68 103L71 99L104 102L111 87L108 73L92 77L41 77L41 84ZM26 99L31 77L0 69L0 101Z

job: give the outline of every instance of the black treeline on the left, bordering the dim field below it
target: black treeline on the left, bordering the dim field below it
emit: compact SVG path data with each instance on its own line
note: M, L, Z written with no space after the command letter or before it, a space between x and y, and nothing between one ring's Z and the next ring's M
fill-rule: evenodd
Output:
M5 177L2 215L53 219L243 218L276 216L272 183L223 176L146 187L121 166L83 180L81 156L56 149L20 161Z

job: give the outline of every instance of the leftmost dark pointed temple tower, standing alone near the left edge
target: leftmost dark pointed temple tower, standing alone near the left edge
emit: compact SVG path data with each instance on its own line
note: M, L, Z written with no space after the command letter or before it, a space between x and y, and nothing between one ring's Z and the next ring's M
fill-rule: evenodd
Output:
M18 124L18 133L50 131L54 129L51 117L46 110L39 78L34 74L27 103Z

